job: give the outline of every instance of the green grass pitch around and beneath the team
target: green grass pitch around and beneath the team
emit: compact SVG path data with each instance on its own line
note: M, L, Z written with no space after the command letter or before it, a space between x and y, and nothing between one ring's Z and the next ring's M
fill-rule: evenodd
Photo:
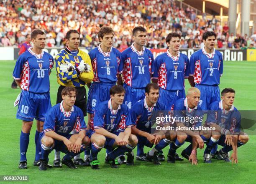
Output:
M256 137L250 136L248 144L238 149L238 164L213 160L212 164L204 164L202 150L198 151L198 166L192 166L187 160L168 164L153 165L135 160L133 167L121 165L119 169L111 169L104 164L105 149L99 153L100 170L90 167L79 167L76 170L66 166L47 169L41 172L33 166L35 143L35 124L31 130L30 144L27 152L28 169L18 169L19 137L21 121L15 118L17 107L13 107L20 90L10 88L15 61L0 61L0 175L26 175L30 183L254 183L256 176ZM256 62L224 62L224 73L221 77L220 90L232 87L236 90L235 106L240 110L256 110ZM56 102L58 84L56 70L51 74L51 102ZM189 84L186 80L186 87ZM88 89L87 89L88 92ZM87 122L87 118L86 118ZM184 144L177 150L187 146ZM149 149L145 148L144 152ZM136 153L136 149L134 150ZM164 149L166 155L168 148ZM63 154L61 154L61 157ZM83 154L81 155L83 157ZM49 156L49 163L54 160L54 152ZM254 182L253 182L254 181ZM15 182L17 183L17 182Z

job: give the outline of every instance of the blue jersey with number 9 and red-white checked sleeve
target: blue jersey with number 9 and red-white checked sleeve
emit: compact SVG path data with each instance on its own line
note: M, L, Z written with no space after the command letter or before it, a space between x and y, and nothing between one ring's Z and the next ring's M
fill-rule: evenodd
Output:
M159 87L165 90L183 90L188 78L188 57L179 53L176 57L167 52L156 57L155 72L152 79L157 79Z

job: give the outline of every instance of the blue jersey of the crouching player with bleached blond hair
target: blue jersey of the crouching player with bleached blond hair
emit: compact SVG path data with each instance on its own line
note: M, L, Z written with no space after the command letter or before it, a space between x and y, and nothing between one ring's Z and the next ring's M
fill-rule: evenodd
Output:
M178 99L174 103L174 118L176 118L176 122L181 122L186 127L197 128L202 126L203 117L204 111L200 104L193 109L190 109L187 103L187 98Z

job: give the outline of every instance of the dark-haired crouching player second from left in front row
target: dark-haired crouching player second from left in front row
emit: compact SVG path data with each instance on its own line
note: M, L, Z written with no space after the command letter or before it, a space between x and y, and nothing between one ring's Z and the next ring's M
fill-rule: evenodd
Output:
M113 150L108 153L106 162L112 168L118 168L116 157L125 152L131 152L138 143L135 135L131 134L131 126L127 122L129 116L128 107L123 104L125 90L120 85L110 88L110 100L100 103L95 112L92 129L88 134L92 142L90 164L92 169L99 169L97 154L104 147ZM132 158L128 158L130 160Z

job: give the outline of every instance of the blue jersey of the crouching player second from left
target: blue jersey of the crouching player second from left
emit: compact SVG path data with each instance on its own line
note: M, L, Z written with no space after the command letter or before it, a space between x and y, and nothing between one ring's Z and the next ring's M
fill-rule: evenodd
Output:
M129 109L125 104L119 105L118 109L114 110L111 99L107 100L97 106L91 121L92 130L104 128L111 133L123 132L126 127L131 127L131 124L127 122L128 116Z

